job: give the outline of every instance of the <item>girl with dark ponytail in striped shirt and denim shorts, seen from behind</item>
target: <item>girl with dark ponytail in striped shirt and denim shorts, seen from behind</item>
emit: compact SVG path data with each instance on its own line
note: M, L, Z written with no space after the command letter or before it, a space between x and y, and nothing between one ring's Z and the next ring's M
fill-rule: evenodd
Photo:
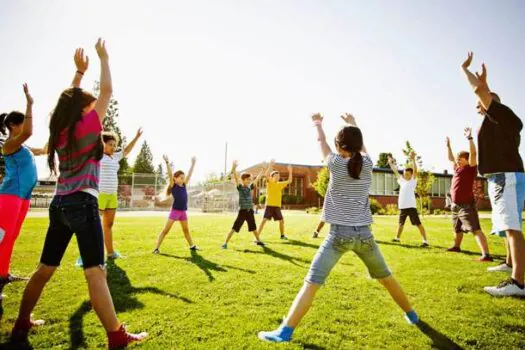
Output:
M315 114L312 119L317 128L321 152L330 171L330 182L323 205L323 220L330 224L330 233L319 247L303 287L281 326L274 331L260 332L259 339L276 343L289 342L295 328L308 313L315 294L339 259L348 251L353 251L363 261L370 276L379 280L388 290L405 312L407 321L410 324L419 322L403 289L392 276L370 230L372 213L369 193L373 163L363 144L361 130L356 126L353 116L343 116L348 125L337 133L337 153L332 153L322 128L323 117Z

